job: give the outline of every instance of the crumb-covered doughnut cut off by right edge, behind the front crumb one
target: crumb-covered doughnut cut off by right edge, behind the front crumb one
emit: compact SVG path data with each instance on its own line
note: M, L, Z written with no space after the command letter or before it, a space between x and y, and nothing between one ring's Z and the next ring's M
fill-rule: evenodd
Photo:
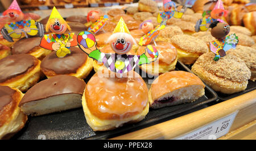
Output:
M250 80L256 80L256 49L238 45L236 49L230 49L227 54L234 55L245 62L246 66L251 71Z

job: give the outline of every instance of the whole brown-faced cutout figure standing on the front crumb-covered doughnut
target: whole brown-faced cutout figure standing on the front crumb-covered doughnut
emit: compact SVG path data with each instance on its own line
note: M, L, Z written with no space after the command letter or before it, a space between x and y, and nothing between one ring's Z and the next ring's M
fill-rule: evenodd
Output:
M238 44L238 37L235 33L230 34L229 24L224 23L223 20L216 20L209 26L212 28L210 33L216 40L210 42L210 51L215 54L214 61L218 61L221 57L226 55L229 49L236 49Z

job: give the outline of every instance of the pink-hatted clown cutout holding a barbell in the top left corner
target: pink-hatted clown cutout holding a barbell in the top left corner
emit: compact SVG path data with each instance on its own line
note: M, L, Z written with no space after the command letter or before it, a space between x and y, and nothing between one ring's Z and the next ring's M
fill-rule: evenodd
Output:
M24 14L16 0L3 12L2 18L7 18L6 21L8 22L1 29L1 34L7 41L13 42L13 39L22 38L22 35L28 38L29 36L42 37L44 34L41 23L33 19L23 20Z

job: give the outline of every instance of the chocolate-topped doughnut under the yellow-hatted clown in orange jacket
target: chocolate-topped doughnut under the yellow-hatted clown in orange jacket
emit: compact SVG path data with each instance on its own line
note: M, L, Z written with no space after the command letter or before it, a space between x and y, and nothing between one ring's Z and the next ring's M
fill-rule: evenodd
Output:
M48 78L56 75L71 75L85 79L92 71L93 59L82 50L71 47L71 54L58 58L56 52L48 54L41 63L41 70Z

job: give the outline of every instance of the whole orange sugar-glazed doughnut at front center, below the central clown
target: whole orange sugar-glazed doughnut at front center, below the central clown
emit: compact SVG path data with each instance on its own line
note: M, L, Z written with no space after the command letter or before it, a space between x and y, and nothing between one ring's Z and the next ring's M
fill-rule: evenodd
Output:
M103 71L102 71L103 72ZM88 81L82 96L86 122L93 131L106 131L141 121L148 113L147 85L137 72L113 78L99 72Z

